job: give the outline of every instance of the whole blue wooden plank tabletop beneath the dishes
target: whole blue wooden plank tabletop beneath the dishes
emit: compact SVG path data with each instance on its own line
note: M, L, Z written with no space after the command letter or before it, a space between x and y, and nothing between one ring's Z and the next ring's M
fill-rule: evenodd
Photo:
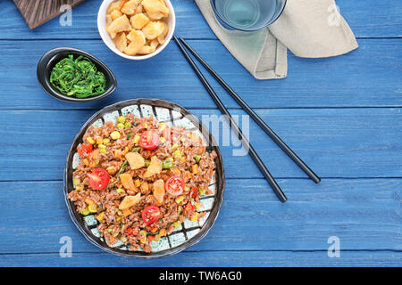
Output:
M322 176L316 185L250 122L250 140L289 201L273 194L250 157L222 147L227 186L222 211L204 240L152 261L106 254L71 223L63 201L66 153L80 126L113 102L157 97L199 118L219 115L171 43L147 61L112 53L96 28L98 0L29 30L11 0L0 2L0 265L22 266L390 266L402 265L402 2L339 0L359 49L328 59L289 53L289 76L258 81L216 39L190 0L173 0L176 36L243 96ZM59 102L38 85L43 53L71 46L93 53L119 81L116 92L86 104ZM211 77L208 77L211 78ZM213 80L233 114L245 114ZM59 243L72 240L72 256ZM340 256L330 257L330 237ZM335 239L337 239L335 238ZM331 241L331 240L330 240Z

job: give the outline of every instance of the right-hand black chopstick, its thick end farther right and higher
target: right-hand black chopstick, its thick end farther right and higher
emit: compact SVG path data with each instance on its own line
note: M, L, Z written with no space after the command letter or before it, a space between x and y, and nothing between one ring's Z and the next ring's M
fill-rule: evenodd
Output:
M289 146L283 142L281 140L281 138L278 136L278 134L275 134L275 132L272 131L271 127L269 127L268 125L265 124L264 120L262 118L260 118L253 109L250 108L250 106L247 105L246 102L243 101L243 99L241 99L241 97L239 96L239 94L237 94L236 92L233 91L233 89L230 88L230 85L228 85L223 79L222 77L220 77L215 71L214 69L212 69L208 63L206 63L201 56L199 56L196 51L194 51L190 45L188 45L188 43L182 38L180 37L180 41L181 43L183 43L183 45L186 45L188 51L190 53L192 53L196 58L197 61L199 61L204 67L205 69L207 69L212 76L222 85L222 87L230 94L230 96L239 103L239 105L243 108L243 110L245 110L247 112L248 115L250 115L251 118L253 118L255 120L255 123L257 123L258 126L260 126L264 132L266 134L268 134L271 138L272 141L275 142L276 144L278 144L278 146L282 149L282 151L284 151L290 159L292 159L298 167L300 167L305 173L306 175L308 175L313 181L314 183L320 183L321 178L316 175L314 173L313 170L311 170L310 167L308 167L306 165L306 163L300 159L297 154L292 151Z

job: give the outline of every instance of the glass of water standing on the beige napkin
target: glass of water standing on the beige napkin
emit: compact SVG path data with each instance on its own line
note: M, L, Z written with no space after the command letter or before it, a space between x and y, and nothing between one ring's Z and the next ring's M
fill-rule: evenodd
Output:
M211 0L211 4L223 27L255 31L277 20L286 0Z

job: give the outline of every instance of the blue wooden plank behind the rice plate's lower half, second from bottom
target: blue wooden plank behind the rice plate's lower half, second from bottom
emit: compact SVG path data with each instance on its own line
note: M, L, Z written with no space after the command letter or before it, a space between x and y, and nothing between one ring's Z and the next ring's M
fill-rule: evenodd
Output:
M285 204L263 179L229 179L213 229L188 250L326 250L330 236L339 237L342 250L402 250L402 179L278 183L289 197ZM101 252L72 224L62 182L0 183L0 187L1 256L58 252L63 236L71 238L74 252Z

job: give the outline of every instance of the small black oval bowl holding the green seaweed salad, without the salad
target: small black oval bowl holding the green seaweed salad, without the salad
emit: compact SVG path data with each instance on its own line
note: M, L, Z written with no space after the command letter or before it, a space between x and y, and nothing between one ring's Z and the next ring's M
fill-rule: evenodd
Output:
M67 57L69 54L72 54L74 58L80 55L86 56L90 61L95 63L96 69L105 74L106 77L105 93L80 99L72 96L67 96L58 91L56 88L54 88L54 86L50 83L50 74L52 72L52 69L54 68L57 62L63 60L63 58ZM42 85L42 88L46 91L47 94L63 102L96 101L105 98L107 95L112 94L117 87L116 77L114 77L112 70L109 69L104 62L100 61L92 54L71 47L58 47L45 53L42 56L42 58L38 61L37 77L40 85Z

